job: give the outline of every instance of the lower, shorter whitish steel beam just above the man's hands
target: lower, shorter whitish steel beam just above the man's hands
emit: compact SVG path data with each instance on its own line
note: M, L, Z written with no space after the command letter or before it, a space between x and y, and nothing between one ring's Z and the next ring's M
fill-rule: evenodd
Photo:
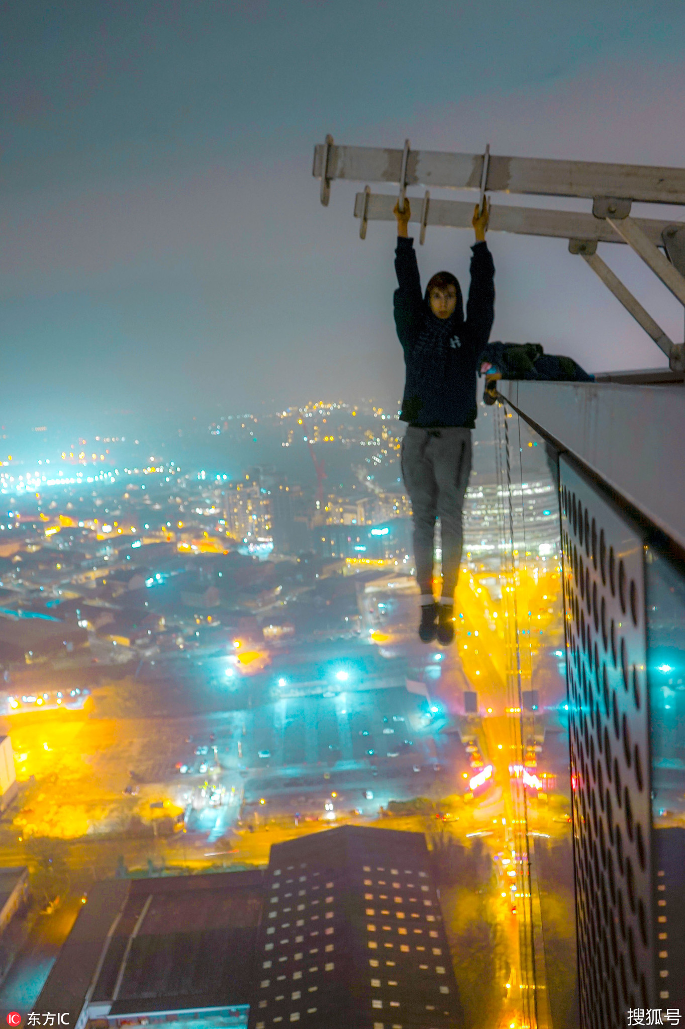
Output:
M428 211L424 212L424 198L407 197L411 206L409 221L420 225L442 225L453 228L470 228L474 205L468 201L436 200L430 198ZM366 221L395 221L393 208L397 198L389 193L357 193L355 217L365 217ZM365 213L364 213L365 212ZM425 213L425 221L422 214ZM672 221L656 219L636 219L645 237L654 247L661 246L661 233L673 226ZM490 229L500 233L517 233L524 236L550 236L557 239L594 240L601 243L623 243L624 241L608 224L608 219L596 218L591 214L575 211L540 210L531 207L509 207L493 204L490 214ZM663 260L669 264L664 257ZM669 264L669 268L672 268Z

